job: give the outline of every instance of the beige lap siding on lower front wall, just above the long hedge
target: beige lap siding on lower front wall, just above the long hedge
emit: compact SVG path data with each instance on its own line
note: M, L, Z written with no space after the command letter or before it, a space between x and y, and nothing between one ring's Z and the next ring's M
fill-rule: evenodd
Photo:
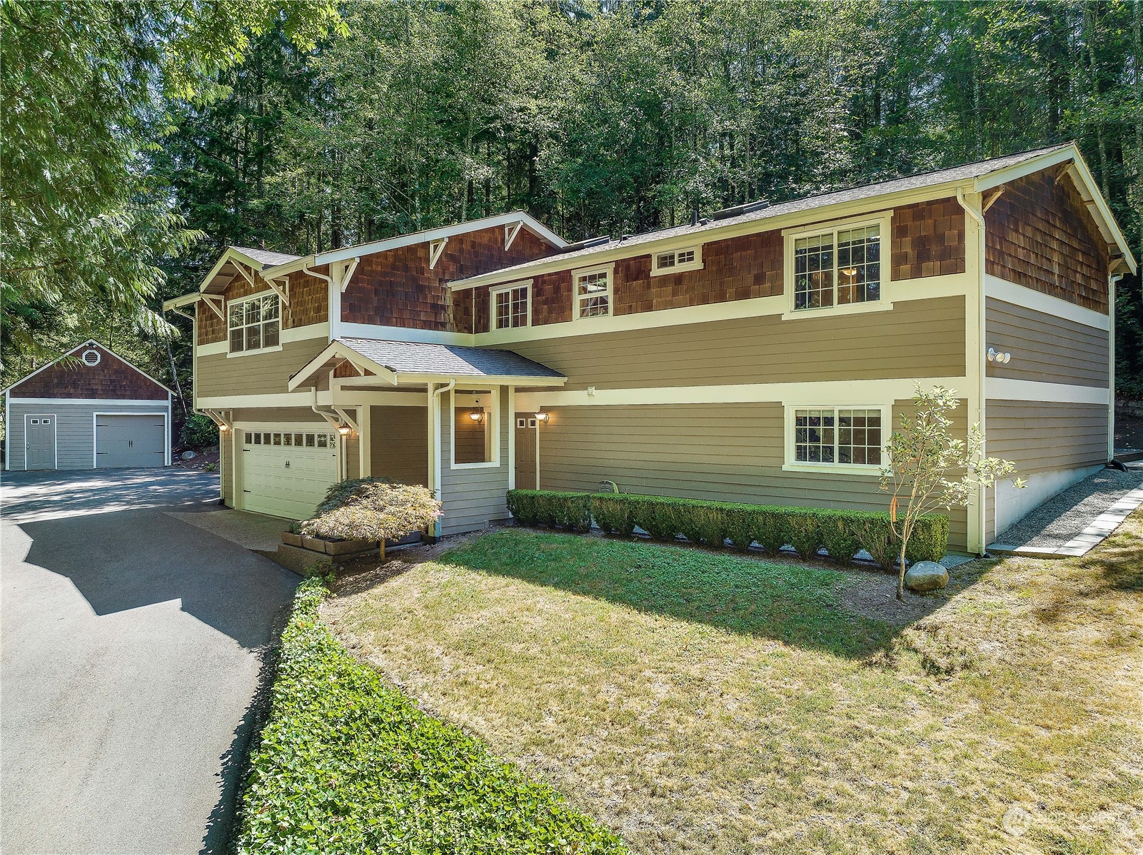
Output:
M911 408L894 405L894 421ZM884 511L889 498L868 474L784 472L781 403L555 407L541 428L541 487L806 508ZM957 430L965 431L962 406ZM884 429L882 429L884 430ZM950 514L950 546L965 549L964 509Z

